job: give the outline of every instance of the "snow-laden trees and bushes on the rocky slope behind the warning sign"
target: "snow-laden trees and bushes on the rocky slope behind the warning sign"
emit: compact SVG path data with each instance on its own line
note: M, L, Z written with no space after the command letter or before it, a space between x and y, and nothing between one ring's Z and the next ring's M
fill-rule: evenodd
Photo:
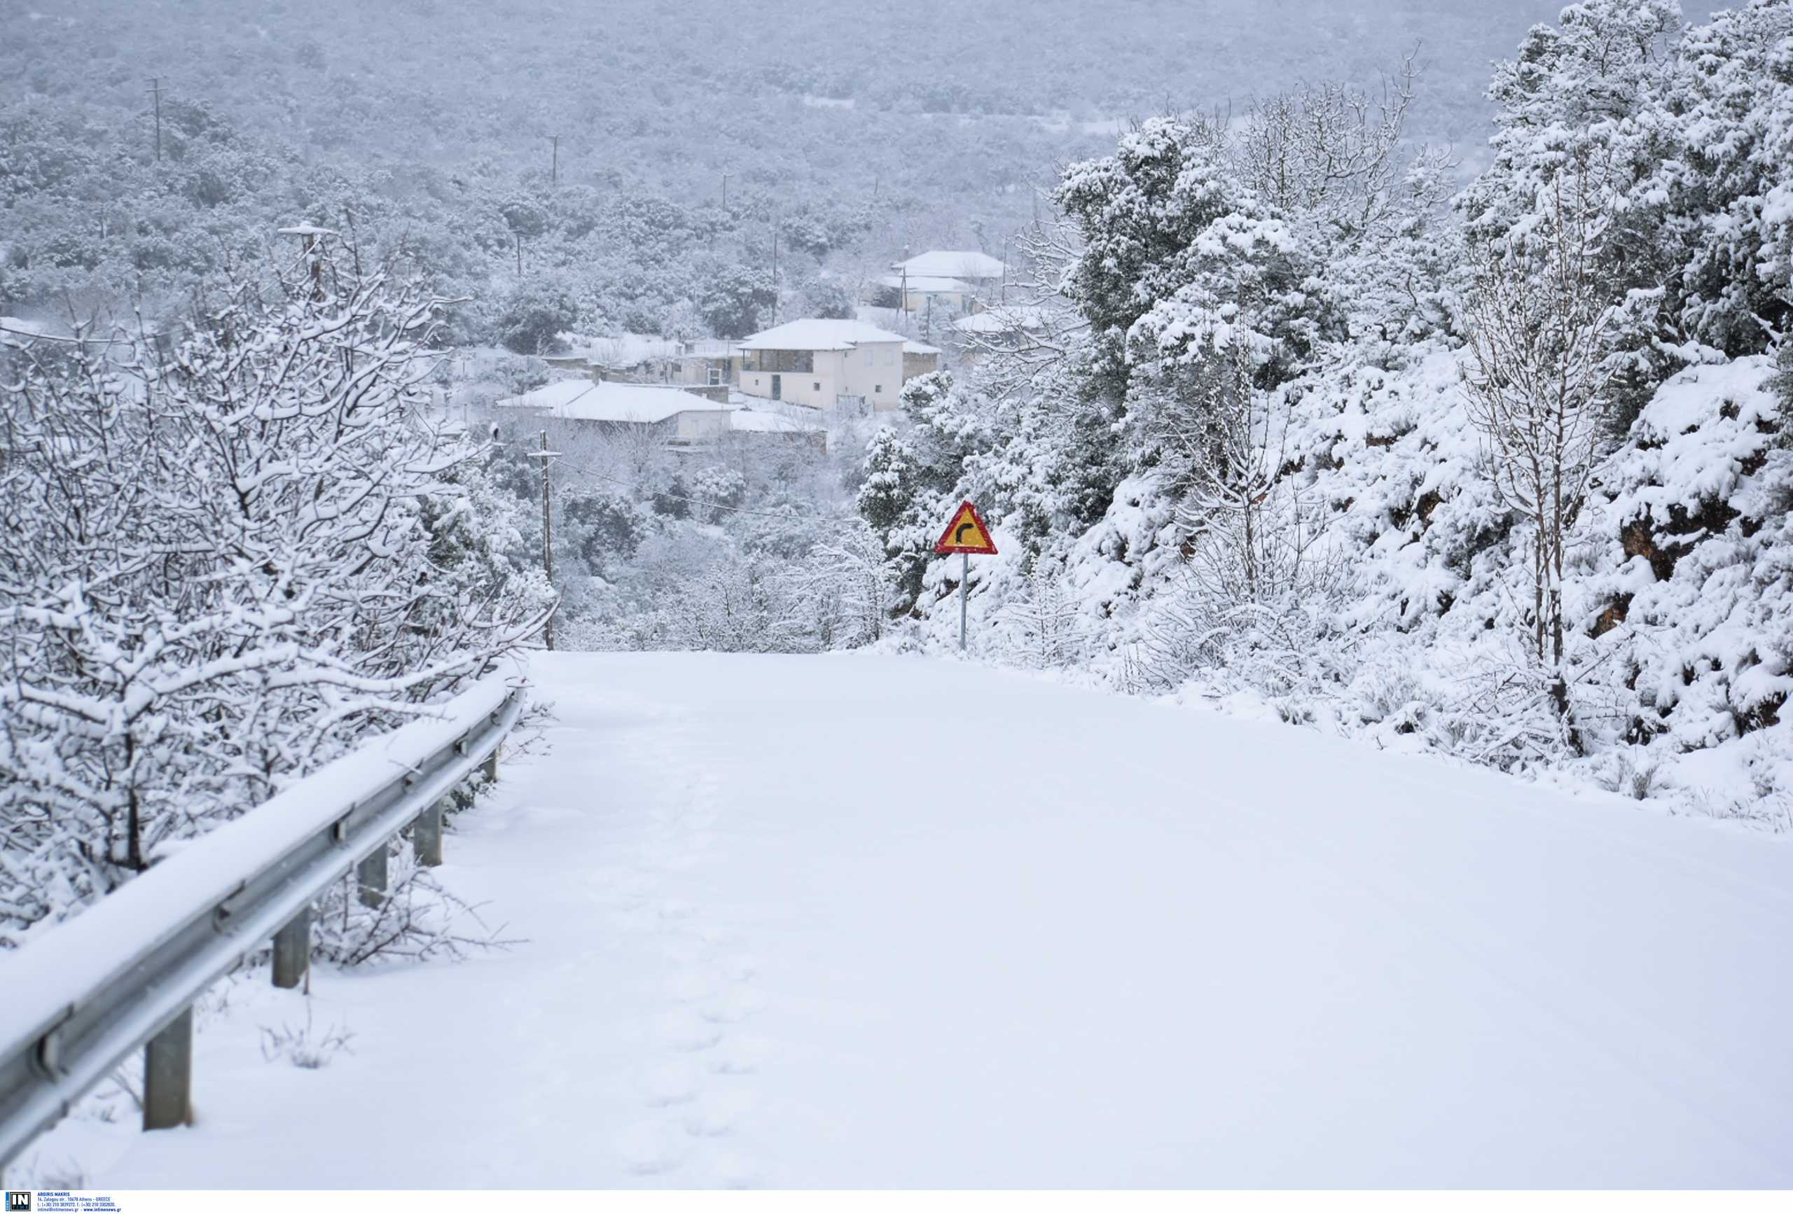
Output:
M986 656L1793 823L1789 13L1571 5L1451 210L1399 84L1070 165L1070 319L868 450L904 631L956 644L972 497Z

